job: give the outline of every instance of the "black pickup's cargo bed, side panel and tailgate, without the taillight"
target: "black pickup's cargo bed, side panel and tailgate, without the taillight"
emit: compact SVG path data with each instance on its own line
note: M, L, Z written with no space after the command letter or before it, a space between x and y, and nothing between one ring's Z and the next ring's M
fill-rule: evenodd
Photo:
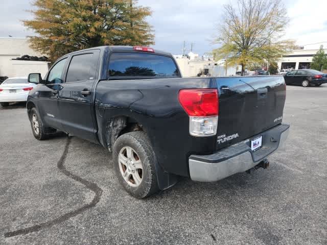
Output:
M180 89L216 88L217 135L194 137L178 101ZM146 130L162 168L189 176L190 155L209 155L281 124L286 86L283 77L104 80L96 88L98 136L107 146L108 118L125 115Z

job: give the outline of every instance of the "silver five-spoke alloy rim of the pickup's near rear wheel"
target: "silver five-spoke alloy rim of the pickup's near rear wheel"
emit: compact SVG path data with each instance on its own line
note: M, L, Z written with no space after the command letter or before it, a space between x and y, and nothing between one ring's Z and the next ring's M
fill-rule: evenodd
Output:
M121 175L128 185L137 187L143 180L143 165L137 153L130 146L124 146L118 154Z

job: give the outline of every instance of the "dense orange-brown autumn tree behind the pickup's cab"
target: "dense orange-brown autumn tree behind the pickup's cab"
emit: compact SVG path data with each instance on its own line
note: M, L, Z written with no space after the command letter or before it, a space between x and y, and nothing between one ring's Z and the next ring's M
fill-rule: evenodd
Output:
M145 20L151 10L135 0L35 0L33 6L34 19L23 21L37 34L31 47L51 60L100 45L154 44Z

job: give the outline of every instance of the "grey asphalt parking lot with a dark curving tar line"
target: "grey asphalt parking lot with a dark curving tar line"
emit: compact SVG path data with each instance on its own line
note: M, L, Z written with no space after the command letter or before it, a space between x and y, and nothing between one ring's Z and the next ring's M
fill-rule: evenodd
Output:
M267 170L136 200L100 145L37 141L24 104L0 107L0 244L327 244L327 84L288 86L283 121Z

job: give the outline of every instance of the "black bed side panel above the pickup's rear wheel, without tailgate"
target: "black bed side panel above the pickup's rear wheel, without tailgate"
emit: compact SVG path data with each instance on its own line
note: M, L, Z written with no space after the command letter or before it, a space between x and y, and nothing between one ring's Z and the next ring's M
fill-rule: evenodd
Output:
M216 88L211 78L100 81L96 88L99 139L106 146L107 122L127 116L142 124L159 165L169 173L189 176L191 154L211 154L216 136L197 138L189 133L189 116L178 101L185 88Z

